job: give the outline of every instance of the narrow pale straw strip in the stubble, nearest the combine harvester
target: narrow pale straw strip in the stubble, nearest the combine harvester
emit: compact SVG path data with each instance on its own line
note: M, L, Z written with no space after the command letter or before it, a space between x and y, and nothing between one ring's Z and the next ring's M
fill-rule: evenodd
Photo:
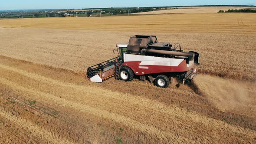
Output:
M173 113L175 108L170 107L172 105L167 106L158 101L150 100L148 98L142 98L139 96L134 97L134 96L128 95L128 94L123 94L120 96L119 92L112 92L112 91L105 90L105 89L100 89L101 93L99 93L97 91L98 88L95 88L92 86L75 85L75 84L71 84L71 83L67 83L67 82L61 82L58 80L46 78L41 75L37 75L37 74L31 73L31 72L26 72L24 70L16 69L16 68L6 66L6 65L1 65L1 64L0 64L0 68L19 73L20 75L24 75L24 76L34 79L36 81L43 81L43 82L47 82L50 84L59 85L61 87L72 88L73 90L75 90L77 92L82 92L82 93L80 93L80 95L82 95L83 93L87 93L87 94L89 94L89 97L88 97L88 95L85 95L85 97L88 98L88 100L90 99L90 95L94 95L96 98L100 98L100 99L96 99L97 101L103 100L101 102L104 102L104 98L110 98L112 100L116 99L118 101L128 102L129 105L140 105L141 107L154 109L155 111L160 111L160 112L166 113L168 115L181 116L181 115ZM65 89L63 89L63 92L64 91L65 91ZM69 90L65 91L65 94L69 94ZM64 96L65 94L62 94L62 96ZM67 95L67 97L70 97L70 95ZM92 102L92 101L90 101L90 102ZM151 105L152 103L154 103L154 105Z

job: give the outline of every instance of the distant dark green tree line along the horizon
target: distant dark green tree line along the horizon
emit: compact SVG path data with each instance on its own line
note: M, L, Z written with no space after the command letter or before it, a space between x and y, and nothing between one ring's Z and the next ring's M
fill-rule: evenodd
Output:
M226 5L217 5L226 6ZM179 6L178 6L179 7ZM189 7L189 6L187 6ZM203 7L203 6L199 6ZM204 6L205 7L205 6ZM214 7L214 6L210 6ZM253 6L252 6L253 7ZM67 15L77 15L77 16L113 16L122 15L127 16L128 13L140 13L156 10L167 10L167 9L177 9L177 7L123 7L123 8L88 8L82 10L88 11L72 11L74 9L67 10L56 10L55 13L50 12L50 10L13 10L13 11L0 11L0 18L33 18L33 17L65 17ZM51 10L53 11L53 10ZM66 13L64 15L64 13ZM252 9L242 9L242 10L220 10L219 13L256 13L256 10Z

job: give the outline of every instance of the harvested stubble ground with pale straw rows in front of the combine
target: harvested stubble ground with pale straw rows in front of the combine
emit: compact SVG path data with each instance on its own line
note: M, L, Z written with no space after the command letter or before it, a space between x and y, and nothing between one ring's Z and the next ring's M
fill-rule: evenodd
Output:
M218 111L188 86L163 90L148 83L114 80L97 85L78 75L6 59L1 59L0 69L0 129L18 123L11 135L2 135L2 141L13 137L14 142L43 142L38 139L44 137L44 141L56 143L115 143L119 138L125 143L255 141L254 130L240 127L253 129L255 118ZM143 88L135 94L138 87ZM144 95L146 91L148 95ZM24 111L16 101L11 102L12 97L25 102L36 100L32 106L43 113L26 106ZM214 111L206 114L200 109ZM247 122L243 125L242 120Z

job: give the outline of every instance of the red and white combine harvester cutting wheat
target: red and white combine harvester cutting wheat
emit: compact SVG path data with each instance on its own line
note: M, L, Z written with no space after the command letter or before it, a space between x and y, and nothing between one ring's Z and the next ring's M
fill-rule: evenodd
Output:
M128 45L119 44L114 49L118 56L93 65L87 69L87 78L92 82L102 82L115 76L115 79L132 81L137 75L140 80L154 82L167 88L171 77L183 82L191 82L197 75L194 64L199 64L199 54L183 52L180 44L158 42L156 36L135 35Z

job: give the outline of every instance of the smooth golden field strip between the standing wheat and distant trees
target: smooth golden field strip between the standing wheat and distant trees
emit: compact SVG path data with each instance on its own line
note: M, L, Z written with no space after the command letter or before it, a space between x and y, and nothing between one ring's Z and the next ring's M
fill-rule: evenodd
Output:
M4 28L84 29L148 33L255 34L255 13L186 13L149 16L1 20ZM127 40L126 40L127 41Z

